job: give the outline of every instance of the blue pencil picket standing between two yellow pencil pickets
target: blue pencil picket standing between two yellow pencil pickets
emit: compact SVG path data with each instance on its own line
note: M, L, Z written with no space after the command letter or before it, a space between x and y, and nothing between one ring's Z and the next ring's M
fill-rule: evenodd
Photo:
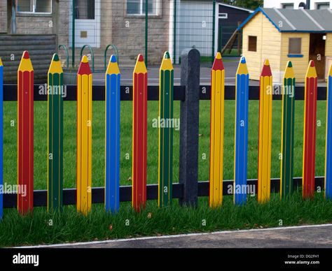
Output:
M234 203L247 203L248 107L249 74L246 59L241 57L236 73L235 89L235 147L234 147ZM238 189L240 187L240 189Z

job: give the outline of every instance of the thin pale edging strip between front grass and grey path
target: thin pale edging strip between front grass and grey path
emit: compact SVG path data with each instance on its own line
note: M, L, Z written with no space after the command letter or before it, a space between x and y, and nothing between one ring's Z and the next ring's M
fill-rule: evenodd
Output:
M304 226L288 226L288 227L277 227L277 228L253 228L250 230L222 230L215 231L212 233L188 233L188 234L178 234L178 235L162 235L162 236L148 236L148 237L137 237L137 238L127 238L118 240L104 240L104 241L91 241L91 242L77 242L77 243L64 243L64 244L43 244L36 246L25 246L25 247L14 247L15 249L35 249L35 248L47 248L47 247L74 247L84 244L108 244L115 242L130 242L139 240L152 240L152 239L167 239L167 238L177 238L177 237L191 237L191 236L201 236L201 235L211 235L211 234L227 234L227 233L250 233L253 231L266 231L266 230L287 230L295 228L321 228L332 226L332 224L319 224L319 225L304 225Z

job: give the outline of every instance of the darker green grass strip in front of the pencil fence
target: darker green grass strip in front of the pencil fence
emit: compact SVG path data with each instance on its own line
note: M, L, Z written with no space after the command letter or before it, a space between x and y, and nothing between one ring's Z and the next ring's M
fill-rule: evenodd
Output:
M247 205L242 207L233 205L232 198L226 196L223 207L216 209L208 207L207 198L200 198L196 209L181 207L177 200L170 207L158 209L155 200L150 200L146 209L139 214L132 210L129 203L123 203L120 212L112 215L104 212L103 205L96 204L92 205L92 212L88 217L76 213L74 206L64 207L61 214L48 214L45 208L35 208L34 214L26 217L21 217L15 210L5 210L4 216L0 223L0 246L12 247L268 228L280 226L280 219L282 226L331 223L332 201L324 200L322 194L317 194L314 200L303 201L298 192L284 201L279 200L279 194L272 194L270 202L263 205L258 204L256 198L249 197ZM206 226L203 226L204 221Z

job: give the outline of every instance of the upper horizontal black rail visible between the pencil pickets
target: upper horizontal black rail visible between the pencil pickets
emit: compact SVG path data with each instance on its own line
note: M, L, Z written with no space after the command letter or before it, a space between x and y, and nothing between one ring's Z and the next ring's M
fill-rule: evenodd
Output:
M47 95L41 94L41 89L45 89L45 85L34 85L34 101L47 101ZM280 88L279 85L275 85L275 88ZM67 95L64 97L64 101L76 101L76 85L66 86ZM121 101L132 101L132 86L121 86ZM295 88L296 100L304 100L305 87L298 86ZM273 100L282 100L282 95L272 94ZM185 87L174 86L174 101L185 101ZM211 99L211 86L200 86L200 100ZM235 86L225 86L225 99L235 100ZM249 87L249 100L259 99L259 87ZM318 87L317 99L319 101L326 100L326 87ZM17 85L4 85L4 101L17 101L18 89ZM105 101L105 86L95 85L92 86L92 100L93 101ZM148 86L148 101L159 100L159 87Z

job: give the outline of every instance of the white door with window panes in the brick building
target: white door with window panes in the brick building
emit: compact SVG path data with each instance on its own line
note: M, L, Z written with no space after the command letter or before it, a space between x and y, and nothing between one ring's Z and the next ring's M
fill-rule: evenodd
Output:
M100 47L100 0L76 0L74 12L75 47Z

